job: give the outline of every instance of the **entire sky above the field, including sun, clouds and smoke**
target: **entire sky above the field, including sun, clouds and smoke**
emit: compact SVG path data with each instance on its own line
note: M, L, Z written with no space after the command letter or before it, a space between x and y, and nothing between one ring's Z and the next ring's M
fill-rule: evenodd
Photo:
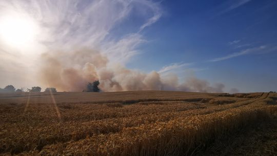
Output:
M0 2L0 87L277 89L277 2Z

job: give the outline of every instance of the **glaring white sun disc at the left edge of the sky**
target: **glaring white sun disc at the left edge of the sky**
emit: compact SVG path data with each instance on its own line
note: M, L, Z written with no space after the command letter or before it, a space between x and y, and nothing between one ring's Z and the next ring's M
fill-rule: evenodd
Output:
M37 25L30 17L0 17L0 40L13 48L30 47L37 35Z

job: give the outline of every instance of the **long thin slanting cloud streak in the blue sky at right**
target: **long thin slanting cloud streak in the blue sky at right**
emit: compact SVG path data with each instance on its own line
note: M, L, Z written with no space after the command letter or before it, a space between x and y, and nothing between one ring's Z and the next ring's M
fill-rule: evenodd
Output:
M217 61L228 60L228 59L231 59L233 57L238 57L238 56L246 55L246 54L249 54L249 53L259 52L261 50L268 51L269 48L267 46L260 46L260 47L255 47L255 48L244 49L240 52L235 52L235 53L229 54L227 56L217 57L215 59L209 60L209 62L217 62Z

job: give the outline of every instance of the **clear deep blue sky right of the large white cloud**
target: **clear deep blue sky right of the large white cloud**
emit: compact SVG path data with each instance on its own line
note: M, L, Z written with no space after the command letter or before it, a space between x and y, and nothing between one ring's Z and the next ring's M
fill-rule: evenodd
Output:
M244 92L276 90L276 1L163 1L161 5L165 15L143 32L150 42L140 47L145 52L128 67L149 71L171 63L193 63L186 68L200 69L194 74L211 83ZM210 62L260 46L268 48Z

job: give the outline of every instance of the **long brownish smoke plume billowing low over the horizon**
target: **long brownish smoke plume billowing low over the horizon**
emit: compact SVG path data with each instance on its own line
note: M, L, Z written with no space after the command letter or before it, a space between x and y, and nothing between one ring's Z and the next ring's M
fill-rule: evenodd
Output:
M211 86L207 81L190 77L179 84L172 75L163 79L159 73L130 70L120 64L110 64L106 56L90 49L72 52L55 51L42 55L39 75L45 86L59 91L82 91L89 82L100 81L102 91L179 90L223 92L224 85Z

